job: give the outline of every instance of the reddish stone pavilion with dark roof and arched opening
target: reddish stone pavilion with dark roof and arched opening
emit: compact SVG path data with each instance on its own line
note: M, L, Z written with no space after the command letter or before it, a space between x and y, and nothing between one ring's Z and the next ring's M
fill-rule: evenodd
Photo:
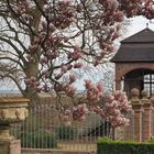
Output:
M111 59L116 64L116 89L130 98L132 88L154 92L154 32L148 28L121 41Z

